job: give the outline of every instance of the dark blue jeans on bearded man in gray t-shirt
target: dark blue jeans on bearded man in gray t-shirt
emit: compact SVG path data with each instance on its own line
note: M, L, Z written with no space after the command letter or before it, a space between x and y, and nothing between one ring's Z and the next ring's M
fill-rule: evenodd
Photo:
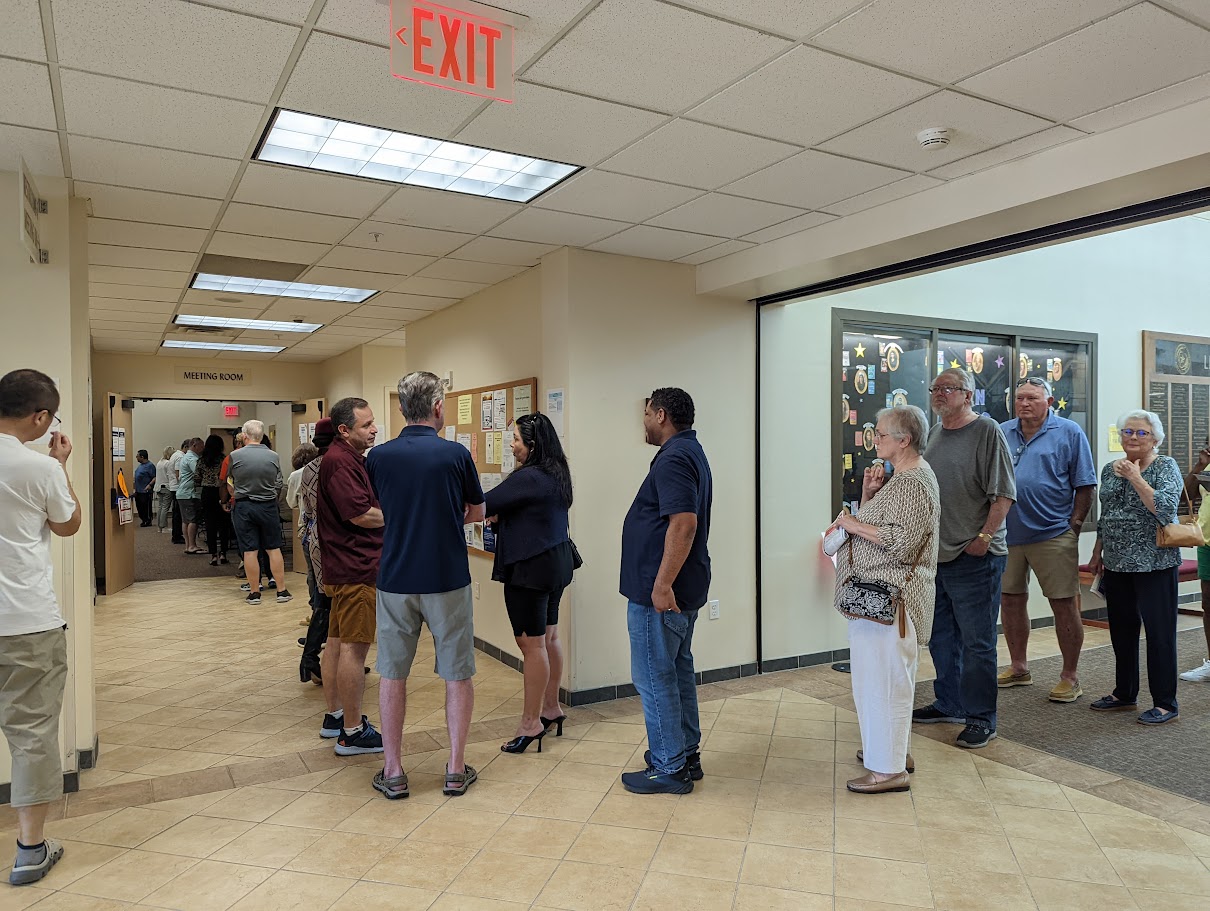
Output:
M937 566L933 705L996 730L996 617L1006 557L961 553Z

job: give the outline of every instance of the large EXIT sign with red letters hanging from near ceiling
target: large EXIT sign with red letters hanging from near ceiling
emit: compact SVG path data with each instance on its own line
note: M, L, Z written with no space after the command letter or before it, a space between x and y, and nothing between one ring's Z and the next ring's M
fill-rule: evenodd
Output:
M513 100L513 18L469 0L391 0L391 75Z

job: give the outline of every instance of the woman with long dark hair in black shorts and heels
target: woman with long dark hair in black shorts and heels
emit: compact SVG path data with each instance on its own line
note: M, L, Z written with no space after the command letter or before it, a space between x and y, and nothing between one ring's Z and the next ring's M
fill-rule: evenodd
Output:
M517 736L500 749L524 753L552 725L563 736L559 705L563 644L559 600L571 584L576 552L567 534L571 469L551 419L522 415L513 427L517 471L486 492L485 509L496 526L491 578L505 583L505 607L525 662L525 707Z

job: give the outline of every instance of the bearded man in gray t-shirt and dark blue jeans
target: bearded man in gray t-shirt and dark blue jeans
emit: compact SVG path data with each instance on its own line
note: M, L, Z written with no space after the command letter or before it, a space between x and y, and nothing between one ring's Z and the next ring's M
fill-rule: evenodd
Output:
M996 737L996 615L1008 548L1004 517L1016 498L1013 460L999 425L974 413L974 379L953 368L929 386L941 419L928 434L924 460L941 492L937 602L929 652L937 668L922 725L966 725L958 746L978 749Z

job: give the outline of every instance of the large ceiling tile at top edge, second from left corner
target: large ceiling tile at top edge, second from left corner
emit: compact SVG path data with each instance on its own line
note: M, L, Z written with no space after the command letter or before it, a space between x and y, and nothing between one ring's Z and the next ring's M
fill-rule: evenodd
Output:
M180 0L105 0L103 12L54 6L64 67L248 102L269 100L298 34Z

